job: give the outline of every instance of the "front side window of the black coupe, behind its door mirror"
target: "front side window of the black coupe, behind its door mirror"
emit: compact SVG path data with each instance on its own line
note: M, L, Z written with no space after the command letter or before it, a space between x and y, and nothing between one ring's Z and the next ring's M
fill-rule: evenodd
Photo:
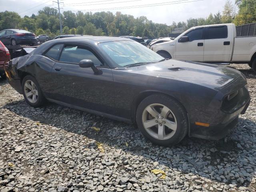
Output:
M62 62L79 63L83 59L92 60L95 66L103 66L102 62L90 50L82 46L67 45L60 55L60 61Z

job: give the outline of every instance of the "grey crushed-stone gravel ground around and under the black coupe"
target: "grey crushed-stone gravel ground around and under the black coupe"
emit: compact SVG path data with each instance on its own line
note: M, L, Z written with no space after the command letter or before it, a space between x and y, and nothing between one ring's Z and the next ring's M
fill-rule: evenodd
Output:
M256 191L256 75L230 67L246 75L252 98L237 128L170 148L122 122L52 103L32 108L0 80L0 192Z

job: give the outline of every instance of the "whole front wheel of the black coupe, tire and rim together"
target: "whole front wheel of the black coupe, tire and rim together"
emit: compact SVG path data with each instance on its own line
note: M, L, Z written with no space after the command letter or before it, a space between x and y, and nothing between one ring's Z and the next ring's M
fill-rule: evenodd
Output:
M162 113L166 114L166 116L163 115L164 117L160 116L161 107L169 110L164 110L168 111ZM160 146L178 144L188 133L186 110L176 100L163 94L150 95L142 100L136 111L136 122L142 134L152 143ZM149 125L148 128L145 128L147 125ZM160 130L163 131L163 134Z

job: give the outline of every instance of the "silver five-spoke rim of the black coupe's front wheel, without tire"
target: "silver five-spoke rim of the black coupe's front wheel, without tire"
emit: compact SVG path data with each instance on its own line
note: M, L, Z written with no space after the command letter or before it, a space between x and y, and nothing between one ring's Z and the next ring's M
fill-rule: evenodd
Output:
M163 104L150 104L142 113L142 123L150 136L158 140L167 140L177 130L174 113Z

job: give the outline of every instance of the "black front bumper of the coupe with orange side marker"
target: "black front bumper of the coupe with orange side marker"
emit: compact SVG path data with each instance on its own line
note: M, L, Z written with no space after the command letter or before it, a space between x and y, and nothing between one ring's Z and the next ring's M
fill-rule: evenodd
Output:
M238 78L223 90L220 90L208 108L190 119L189 136L219 140L224 138L237 124L239 114L244 114L250 104L250 94L246 88L246 80ZM232 92L238 94L231 100L225 100ZM209 127L198 126L195 122L210 124Z

